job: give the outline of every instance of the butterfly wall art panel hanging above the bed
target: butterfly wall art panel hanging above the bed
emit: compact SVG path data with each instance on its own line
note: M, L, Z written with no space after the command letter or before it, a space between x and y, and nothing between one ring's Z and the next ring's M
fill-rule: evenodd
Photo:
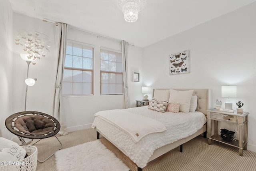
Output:
M169 55L169 75L190 73L190 52L185 50Z

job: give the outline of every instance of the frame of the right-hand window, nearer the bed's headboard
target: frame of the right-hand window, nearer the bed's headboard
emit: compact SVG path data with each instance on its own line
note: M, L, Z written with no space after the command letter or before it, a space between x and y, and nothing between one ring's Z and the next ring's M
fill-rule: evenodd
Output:
M114 50L114 49L110 49L110 48L104 48L104 47L100 47L100 95L123 95L124 94L124 88L122 88L122 93L101 93L102 90L102 73L108 73L108 74L122 74L122 87L124 87L124 78L123 78L123 60L122 60L122 72L112 72L112 71L102 71L101 70L101 50L107 50L110 52L115 52L115 53L120 53L121 54L121 58L122 58L122 51L119 50ZM117 83L115 83L117 84Z

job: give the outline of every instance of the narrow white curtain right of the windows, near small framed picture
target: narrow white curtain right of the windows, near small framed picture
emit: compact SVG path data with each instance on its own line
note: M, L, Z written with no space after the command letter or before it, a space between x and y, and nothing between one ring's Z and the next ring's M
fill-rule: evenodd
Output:
M122 40L122 62L123 62L123 81L124 81L124 109L129 108L128 85L127 85L127 57L128 57L128 42Z

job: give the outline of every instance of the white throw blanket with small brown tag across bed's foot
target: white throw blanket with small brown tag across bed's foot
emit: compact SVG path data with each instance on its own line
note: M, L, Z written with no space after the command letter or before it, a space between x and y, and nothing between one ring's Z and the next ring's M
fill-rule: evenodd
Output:
M160 121L121 109L99 111L94 114L94 117L100 117L119 127L136 143L150 133L166 131L166 127Z

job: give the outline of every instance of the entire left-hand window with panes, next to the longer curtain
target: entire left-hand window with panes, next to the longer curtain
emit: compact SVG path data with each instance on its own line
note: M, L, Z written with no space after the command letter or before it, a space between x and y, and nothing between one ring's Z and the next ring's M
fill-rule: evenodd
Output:
M93 95L94 48L80 42L68 41L64 75L63 95Z

